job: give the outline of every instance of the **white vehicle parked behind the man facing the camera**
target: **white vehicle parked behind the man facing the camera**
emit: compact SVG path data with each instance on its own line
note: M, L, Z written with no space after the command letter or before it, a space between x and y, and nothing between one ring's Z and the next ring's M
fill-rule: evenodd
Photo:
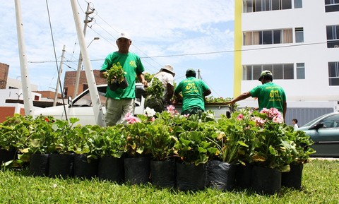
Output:
M97 91L100 96L102 111L106 112L106 93L107 85L97 85ZM141 83L136 83L136 108L134 114L143 114L145 99L143 95L145 90ZM66 114L65 114L66 113ZM35 115L54 116L55 119L67 119L75 117L80 119L76 124L81 125L95 125L95 116L92 107L92 100L90 99L90 90L83 91L73 100L71 97L67 100L67 104L56 107L47 107L35 109Z

